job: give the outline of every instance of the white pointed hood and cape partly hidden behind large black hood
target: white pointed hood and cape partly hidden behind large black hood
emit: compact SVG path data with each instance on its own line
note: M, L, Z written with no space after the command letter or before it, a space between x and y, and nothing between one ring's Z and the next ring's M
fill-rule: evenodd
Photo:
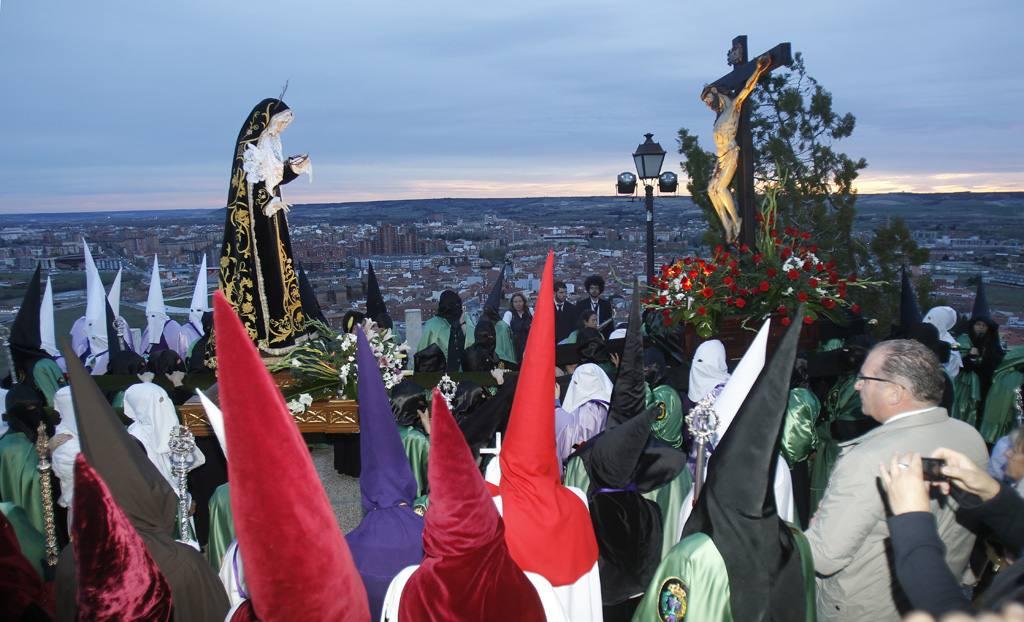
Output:
M722 388L722 392L715 400L715 415L718 418L718 422L715 426L715 433L712 434L709 448L711 453L714 453L715 446L718 445L722 437L725 436L726 430L729 429L729 425L732 424L736 413L739 412L739 407L742 406L743 400L746 399L748 393L754 388L754 383L757 382L758 376L761 375L761 370L764 369L765 361L767 360L768 333L770 328L771 320L765 320L757 336L754 337L754 341L746 348L746 351L743 353L743 357L739 360L732 375L729 376L729 380ZM790 474L790 467L785 463L785 460L781 456L776 456L775 459L775 506L778 508L778 515L783 521L793 523L797 515L796 506L793 501L793 478ZM707 478L707 471L705 472ZM682 514L679 522L680 536L682 536L681 530L686 525L687 519L690 517L692 509L693 489L690 489L686 500L683 501Z

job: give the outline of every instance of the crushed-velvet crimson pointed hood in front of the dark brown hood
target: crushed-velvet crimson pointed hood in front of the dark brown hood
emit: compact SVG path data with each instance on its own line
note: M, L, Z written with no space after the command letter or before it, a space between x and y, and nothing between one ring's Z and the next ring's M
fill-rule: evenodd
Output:
M75 457L74 516L78 619L170 620L167 579L85 454Z

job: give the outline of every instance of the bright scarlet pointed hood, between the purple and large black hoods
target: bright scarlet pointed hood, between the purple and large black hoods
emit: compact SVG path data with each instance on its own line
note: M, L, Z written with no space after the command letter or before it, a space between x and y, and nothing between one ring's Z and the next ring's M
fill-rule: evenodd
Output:
M593 568L597 540L586 504L561 485L555 449L553 263L549 252L499 454L499 491L512 557L519 568L558 586L574 583Z

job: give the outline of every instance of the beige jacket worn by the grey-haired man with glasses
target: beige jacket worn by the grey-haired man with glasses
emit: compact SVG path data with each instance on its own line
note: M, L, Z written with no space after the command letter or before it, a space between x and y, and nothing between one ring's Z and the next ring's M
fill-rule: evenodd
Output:
M840 445L824 498L807 530L817 574L818 620L899 620L907 609L892 571L888 509L879 480L879 464L895 454L928 456L939 447L958 451L984 469L985 443L974 427L950 419L945 409L880 425L859 439ZM932 501L939 538L953 576L967 568L974 535L955 521L955 502Z

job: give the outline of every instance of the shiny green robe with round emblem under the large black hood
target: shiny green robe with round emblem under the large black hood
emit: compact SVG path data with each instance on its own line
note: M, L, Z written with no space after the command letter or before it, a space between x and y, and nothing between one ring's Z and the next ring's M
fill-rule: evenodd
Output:
M814 622L814 563L807 538L791 527L804 575L806 620ZM662 559L633 622L731 622L731 589L725 559L707 534L684 538Z

